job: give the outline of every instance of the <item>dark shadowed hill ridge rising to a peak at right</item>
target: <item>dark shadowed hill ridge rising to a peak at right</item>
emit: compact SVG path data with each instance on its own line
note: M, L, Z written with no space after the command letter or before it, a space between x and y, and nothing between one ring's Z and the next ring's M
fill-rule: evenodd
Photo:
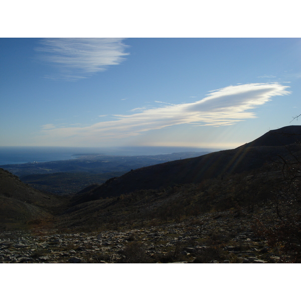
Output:
M271 163L278 155L299 152L301 126L286 126L270 130L252 142L235 149L221 150L201 157L177 160L131 171L121 177L80 192L73 204L127 194L136 190L159 189L174 184L199 183L204 179L223 177L258 169Z

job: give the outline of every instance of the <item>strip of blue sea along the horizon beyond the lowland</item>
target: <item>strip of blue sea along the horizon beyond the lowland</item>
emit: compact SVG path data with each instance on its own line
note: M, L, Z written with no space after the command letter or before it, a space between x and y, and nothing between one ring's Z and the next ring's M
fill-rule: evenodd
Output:
M82 155L154 156L180 152L216 152L215 148L173 146L124 146L124 147L46 147L0 146L0 166L33 162L72 160Z

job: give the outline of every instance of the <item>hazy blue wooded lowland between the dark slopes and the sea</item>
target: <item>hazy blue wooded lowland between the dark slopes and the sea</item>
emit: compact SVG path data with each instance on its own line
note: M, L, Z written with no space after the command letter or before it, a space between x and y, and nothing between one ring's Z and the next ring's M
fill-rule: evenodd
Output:
M119 177L133 169L199 157L208 152L182 152L155 156L75 154L72 160L2 165L33 188L57 195L74 194L93 183Z

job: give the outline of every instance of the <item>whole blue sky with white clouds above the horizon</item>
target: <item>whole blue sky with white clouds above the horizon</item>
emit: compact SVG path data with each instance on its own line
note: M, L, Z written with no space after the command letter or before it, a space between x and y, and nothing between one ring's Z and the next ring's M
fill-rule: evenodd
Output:
M233 148L300 124L298 38L1 38L0 146Z

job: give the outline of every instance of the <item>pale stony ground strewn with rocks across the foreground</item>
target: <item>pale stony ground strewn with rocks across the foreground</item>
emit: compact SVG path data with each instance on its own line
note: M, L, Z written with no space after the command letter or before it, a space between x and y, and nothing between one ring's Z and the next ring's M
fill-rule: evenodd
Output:
M2 263L275 263L252 215L206 214L179 223L91 233L0 233Z

